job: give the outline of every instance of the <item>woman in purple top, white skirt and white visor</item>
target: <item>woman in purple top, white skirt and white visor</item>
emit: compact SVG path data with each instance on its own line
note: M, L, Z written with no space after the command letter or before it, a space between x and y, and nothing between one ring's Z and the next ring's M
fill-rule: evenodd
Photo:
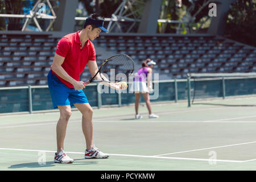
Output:
M133 80L133 86L131 86L132 91L135 94L135 119L141 119L142 115L138 114L139 110L139 101L141 100L141 94L146 101L147 109L148 109L148 118L158 118L158 115L155 115L151 111L150 105L150 96L149 93L152 92L152 68L156 63L151 59L146 59L142 63L142 68L135 73L135 77ZM147 84L146 84L147 83Z

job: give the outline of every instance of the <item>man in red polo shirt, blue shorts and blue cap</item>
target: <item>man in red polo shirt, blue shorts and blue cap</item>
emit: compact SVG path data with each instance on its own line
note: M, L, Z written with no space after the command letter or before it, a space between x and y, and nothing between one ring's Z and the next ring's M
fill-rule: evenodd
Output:
M96 39L101 31L107 31L103 27L103 23L104 18L92 14L86 19L81 31L65 35L57 44L47 79L53 108L60 110L60 118L56 128L55 163L73 163L73 159L69 158L63 149L67 124L71 117L71 106L76 106L82 113L82 131L86 140L85 158L109 157L108 154L104 154L93 144L93 109L82 91L85 88L84 82L80 81L80 75L86 65L92 76L98 71L96 52L90 40ZM121 84L108 84L108 86L117 90L126 89L122 88Z

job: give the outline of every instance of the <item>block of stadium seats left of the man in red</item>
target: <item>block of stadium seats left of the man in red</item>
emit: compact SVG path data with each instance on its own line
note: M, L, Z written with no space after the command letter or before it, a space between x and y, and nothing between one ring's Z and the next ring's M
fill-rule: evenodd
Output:
M46 34L0 35L0 86L46 85L56 38Z

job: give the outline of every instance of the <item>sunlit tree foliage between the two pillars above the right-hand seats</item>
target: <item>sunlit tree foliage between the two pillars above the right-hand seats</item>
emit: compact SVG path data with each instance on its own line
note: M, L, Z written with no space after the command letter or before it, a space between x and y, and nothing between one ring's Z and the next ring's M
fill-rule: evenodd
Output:
M186 34L209 27L209 2L214 0L163 0L160 19L179 20L183 23L158 23L158 32L175 33L178 30Z

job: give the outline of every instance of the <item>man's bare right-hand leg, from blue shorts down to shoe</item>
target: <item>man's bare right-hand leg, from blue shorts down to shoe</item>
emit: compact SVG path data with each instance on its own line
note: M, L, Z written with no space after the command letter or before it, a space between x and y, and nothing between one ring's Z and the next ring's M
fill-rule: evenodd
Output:
M91 150L93 148L93 122L92 114L93 109L89 103L84 104L74 104L76 108L82 113L82 132L84 133L86 141L86 150Z

